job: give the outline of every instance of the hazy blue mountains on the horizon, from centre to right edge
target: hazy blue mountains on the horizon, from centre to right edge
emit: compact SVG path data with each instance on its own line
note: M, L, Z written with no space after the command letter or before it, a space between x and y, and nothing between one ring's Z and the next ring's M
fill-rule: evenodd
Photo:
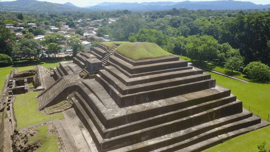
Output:
M111 4L111 6L110 6ZM144 3L111 3L104 2L95 6L86 8L99 9L130 9L130 10L168 10L172 8L187 8L187 9L263 9L270 8L270 4L257 5L251 2L241 1L208 1L208 2L144 2Z

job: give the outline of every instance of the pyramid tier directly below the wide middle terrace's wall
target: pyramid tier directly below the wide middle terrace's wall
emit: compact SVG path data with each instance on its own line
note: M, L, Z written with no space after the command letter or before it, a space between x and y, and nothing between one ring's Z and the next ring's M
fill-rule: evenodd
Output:
M235 102L236 100L235 96L232 96L230 98L213 100L213 101L209 101L203 104L192 106L192 108L184 108L178 111L173 111L166 114L143 119L137 122L132 122L132 123L118 126L118 127L106 129L104 125L100 122L100 119L97 117L97 115L95 115L95 112L90 108L89 105L91 104L88 103L89 101L86 102L84 98L81 95L79 95L79 93L75 93L75 98L76 100L78 100L78 102L84 108L88 116L94 122L96 128L99 130L103 138L112 138L112 137L120 136L126 133L135 132L144 128L158 126L167 122L175 121L177 119L181 119L181 118L198 114L200 113L201 110L205 111L205 110L217 108L219 106L224 106L228 103ZM250 115L251 117L252 113L250 114L251 114Z

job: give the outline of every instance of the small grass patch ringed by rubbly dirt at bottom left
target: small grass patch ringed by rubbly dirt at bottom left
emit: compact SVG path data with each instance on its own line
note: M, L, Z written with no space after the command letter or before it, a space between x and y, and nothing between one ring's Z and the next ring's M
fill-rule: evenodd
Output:
M40 148L37 149L37 152L45 152L45 151L58 152L58 144L56 137L54 135L48 135L47 125L40 126L36 128L36 130L38 130L39 133L36 136L30 137L28 144L40 140L40 143L42 145Z

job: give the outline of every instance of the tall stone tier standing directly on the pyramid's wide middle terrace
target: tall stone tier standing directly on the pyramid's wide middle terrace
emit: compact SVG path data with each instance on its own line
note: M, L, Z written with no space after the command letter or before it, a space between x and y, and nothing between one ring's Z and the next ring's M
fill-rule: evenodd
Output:
M215 79L211 78L199 82L192 82L189 84L176 85L130 95L122 95L111 84L106 82L99 74L96 75L95 79L100 83L100 87L105 88L105 90L109 93L111 98L119 107L127 107L155 100L162 100L177 95L197 92L215 87L216 84Z

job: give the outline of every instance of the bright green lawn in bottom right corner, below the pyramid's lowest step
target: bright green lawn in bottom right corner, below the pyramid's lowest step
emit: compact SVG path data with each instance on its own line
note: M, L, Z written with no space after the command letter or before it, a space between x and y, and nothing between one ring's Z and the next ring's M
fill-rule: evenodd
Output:
M203 152L258 152L257 145L266 141L267 151L270 149L270 126L229 139L222 144Z

